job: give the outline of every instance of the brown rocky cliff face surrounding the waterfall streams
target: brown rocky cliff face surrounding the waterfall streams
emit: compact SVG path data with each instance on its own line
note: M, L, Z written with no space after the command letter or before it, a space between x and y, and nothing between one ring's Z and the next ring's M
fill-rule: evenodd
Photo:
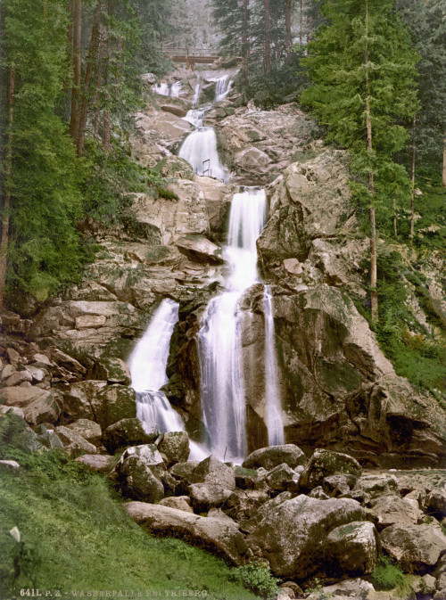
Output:
M166 102L176 109L187 106L181 98ZM138 115L136 156L157 164L176 195L155 201L150 193L134 194L131 226L119 231L86 219L84 230L102 250L84 283L37 316L5 316L5 330L12 336L8 343L23 355L32 341L33 356L38 349L47 354L59 349L78 358L82 365L73 366L67 358L59 366L51 358L38 381L42 389L56 386L65 393L68 383L85 379L95 359L128 358L161 299L177 300L180 318L171 341L166 392L188 431L198 436L202 411L196 333L224 277L221 244L229 203L237 183L273 179L258 251L274 295L286 440L302 448L348 449L369 465L440 464L446 452L444 411L433 397L413 390L394 373L351 300L351 294L366 293L361 261L367 258L368 240L351 204L345 155L311 142L315 128L294 105L261 112L238 103L234 95L207 116L227 149L234 170L230 185L195 176L185 161L171 155L190 130L186 121L165 107ZM243 308L251 451L267 441L261 285L246 292ZM15 371L4 379L17 379ZM29 376L29 385L37 385ZM25 382L19 379L11 380L11 386ZM96 390L99 395L101 390ZM52 397L48 402L54 422L64 424L71 400ZM86 418L94 416L87 413ZM33 424L43 423L33 415Z

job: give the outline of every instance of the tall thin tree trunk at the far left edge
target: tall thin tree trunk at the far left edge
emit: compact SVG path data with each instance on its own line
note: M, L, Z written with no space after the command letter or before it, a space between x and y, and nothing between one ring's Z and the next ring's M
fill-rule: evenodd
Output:
M13 107L14 107L14 91L15 91L15 68L12 66L9 71L9 86L8 86L8 138L6 157L4 164L4 198L2 207L2 242L0 245L0 311L4 308L4 287L6 284L6 270L8 267L8 244L9 244L9 210L11 206L11 187L9 178L12 172L12 125L13 125Z

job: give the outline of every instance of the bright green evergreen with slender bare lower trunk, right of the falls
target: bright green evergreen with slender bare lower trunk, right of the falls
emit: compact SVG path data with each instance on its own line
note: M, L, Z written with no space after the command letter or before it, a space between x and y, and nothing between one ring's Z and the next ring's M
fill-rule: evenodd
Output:
M310 104L327 137L351 151L352 167L367 177L356 192L370 206L370 280L372 316L377 319L376 206L389 203L392 177L408 187L409 179L392 162L408 133L400 124L417 111L417 55L409 34L393 12L392 0L326 0L329 24L309 45L305 64L314 86L301 101Z

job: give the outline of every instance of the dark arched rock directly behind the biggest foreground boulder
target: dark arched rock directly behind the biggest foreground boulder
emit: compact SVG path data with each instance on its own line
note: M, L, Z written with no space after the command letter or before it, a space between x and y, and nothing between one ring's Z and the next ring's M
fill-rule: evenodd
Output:
M343 473L359 477L362 469L358 461L351 456L332 450L316 450L301 474L301 488L316 488L322 485L326 477Z

